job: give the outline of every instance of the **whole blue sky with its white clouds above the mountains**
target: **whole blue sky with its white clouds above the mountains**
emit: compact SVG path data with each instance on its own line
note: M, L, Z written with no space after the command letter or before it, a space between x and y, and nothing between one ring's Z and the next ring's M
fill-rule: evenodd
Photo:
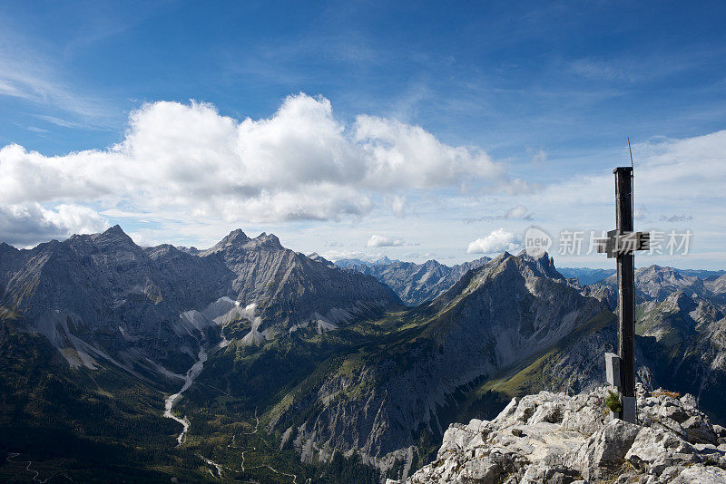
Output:
M331 258L458 262L477 257L467 247L498 229L516 245L532 224L555 235L609 228L611 169L627 160L628 133L636 167L643 163L636 190L645 178L643 193L636 191L640 228L694 233L689 258L643 260L726 266L717 209L726 165L726 5L390 4L0 2L0 147L23 148L0 155L0 238L24 247L120 223L142 244L203 247L242 227ZM194 108L191 100L204 104ZM310 111L299 111L303 105ZM280 112L277 128L262 130ZM239 132L198 136L207 129L202 118L221 131L221 119L262 124L243 130L247 148L230 154L215 147ZM314 149L295 144L296 126L308 123L331 130ZM439 158L411 147L434 146L414 128L439 143ZM170 154L178 138L153 144L165 129L217 144L192 142ZM119 143L121 155L106 156ZM278 143L274 160L265 158L269 143ZM372 154L381 147L389 150ZM91 151L66 162L82 150ZM41 158L30 160L34 151ZM208 158L189 155L196 151ZM287 156L270 172L297 173L294 183L240 181ZM318 165L326 156L332 165ZM422 159L426 176L409 181L416 171L400 164L416 169ZM115 168L138 172L157 162L152 172L163 193ZM452 163L455 172L438 179ZM59 164L73 166L80 181L64 171L69 185L55 193L27 179L34 172L54 179ZM339 164L339 176L315 176ZM374 165L383 167L380 176L365 171ZM662 178L687 166L708 171L689 180L690 191ZM197 182L210 170L240 180L223 196L211 194L220 179ZM112 172L115 188L94 189ZM564 193L573 186L591 191ZM518 207L525 208L512 212L519 217L507 218ZM373 236L382 245L369 243Z

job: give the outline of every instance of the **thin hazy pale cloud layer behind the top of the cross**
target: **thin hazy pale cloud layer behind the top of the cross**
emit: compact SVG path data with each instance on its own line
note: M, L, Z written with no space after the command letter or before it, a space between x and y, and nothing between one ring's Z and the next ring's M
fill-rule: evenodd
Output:
M553 235L557 247L563 230L590 231L614 227L614 179L616 164L630 165L627 143L621 156L608 156L586 171L564 175L532 195L516 198L516 203L536 207L538 225ZM636 230L692 230L688 256L639 255L638 264L690 267L705 266L695 259L697 252L713 254L711 267L723 266L723 206L726 204L726 131L673 140L653 138L633 144L635 161L634 205ZM609 160L609 161L608 161ZM619 160L619 161L618 161ZM500 200L501 203L502 200ZM510 206L511 207L511 206ZM665 214L665 219L661 215ZM672 218L686 215L685 218ZM691 216L692 219L687 219ZM584 251L586 252L587 238ZM608 266L601 254L557 256L558 263L570 266Z

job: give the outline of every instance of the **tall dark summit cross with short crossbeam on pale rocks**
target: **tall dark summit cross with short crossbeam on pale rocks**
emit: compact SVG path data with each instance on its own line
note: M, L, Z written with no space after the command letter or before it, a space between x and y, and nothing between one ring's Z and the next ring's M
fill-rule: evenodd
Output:
M633 167L615 174L617 228L601 239L597 251L615 258L618 267L618 354L605 354L607 380L620 392L622 411L614 417L635 423L635 261L636 250L647 250L648 232L633 232Z

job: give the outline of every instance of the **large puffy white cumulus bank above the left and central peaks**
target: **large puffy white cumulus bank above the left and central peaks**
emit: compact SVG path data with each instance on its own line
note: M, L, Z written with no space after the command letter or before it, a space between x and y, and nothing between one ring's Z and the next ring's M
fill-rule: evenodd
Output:
M418 126L358 116L348 128L327 99L302 93L260 120L237 121L201 102L146 104L106 150L0 150L0 204L98 202L239 222L358 216L394 189L464 179L500 184L505 170L483 150L446 145ZM406 198L393 200L402 214Z

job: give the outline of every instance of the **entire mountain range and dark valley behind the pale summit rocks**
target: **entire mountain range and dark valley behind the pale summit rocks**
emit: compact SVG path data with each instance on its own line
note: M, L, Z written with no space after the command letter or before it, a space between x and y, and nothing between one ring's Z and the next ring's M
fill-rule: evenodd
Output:
M636 275L638 380L721 422L724 281ZM206 250L118 226L0 244L0 446L41 479L406 479L452 422L601 384L612 284L546 254L333 264L241 230Z

